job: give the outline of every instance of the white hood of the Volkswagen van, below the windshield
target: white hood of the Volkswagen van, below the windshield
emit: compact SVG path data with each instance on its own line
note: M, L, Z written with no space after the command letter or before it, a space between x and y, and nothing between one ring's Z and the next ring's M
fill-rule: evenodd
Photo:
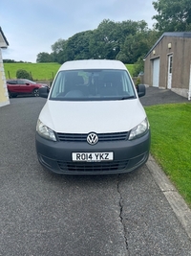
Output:
M48 100L39 119L56 132L109 133L135 128L145 117L138 99L92 102Z

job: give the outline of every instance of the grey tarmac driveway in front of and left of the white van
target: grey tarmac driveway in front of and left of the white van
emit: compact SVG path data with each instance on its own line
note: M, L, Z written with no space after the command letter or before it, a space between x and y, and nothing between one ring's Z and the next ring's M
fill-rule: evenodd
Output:
M126 175L42 169L34 136L44 104L26 97L0 107L0 255L191 255L147 165Z

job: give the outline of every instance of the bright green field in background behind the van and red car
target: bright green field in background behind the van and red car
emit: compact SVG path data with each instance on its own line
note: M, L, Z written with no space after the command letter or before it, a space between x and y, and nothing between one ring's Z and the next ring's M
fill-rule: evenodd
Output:
M32 74L33 81L53 81L60 64L58 63L4 63L6 79L15 79L16 71L24 69ZM134 64L126 64L132 75Z

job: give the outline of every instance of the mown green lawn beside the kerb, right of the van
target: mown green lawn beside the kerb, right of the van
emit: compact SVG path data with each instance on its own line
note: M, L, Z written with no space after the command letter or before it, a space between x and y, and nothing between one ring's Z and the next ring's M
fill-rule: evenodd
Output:
M191 207L191 104L145 106L151 153Z

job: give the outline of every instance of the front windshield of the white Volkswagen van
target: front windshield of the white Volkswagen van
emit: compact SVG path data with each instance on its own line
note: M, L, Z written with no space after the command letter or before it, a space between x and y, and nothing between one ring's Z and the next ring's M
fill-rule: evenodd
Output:
M50 100L109 101L136 98L125 70L65 70L53 82Z

